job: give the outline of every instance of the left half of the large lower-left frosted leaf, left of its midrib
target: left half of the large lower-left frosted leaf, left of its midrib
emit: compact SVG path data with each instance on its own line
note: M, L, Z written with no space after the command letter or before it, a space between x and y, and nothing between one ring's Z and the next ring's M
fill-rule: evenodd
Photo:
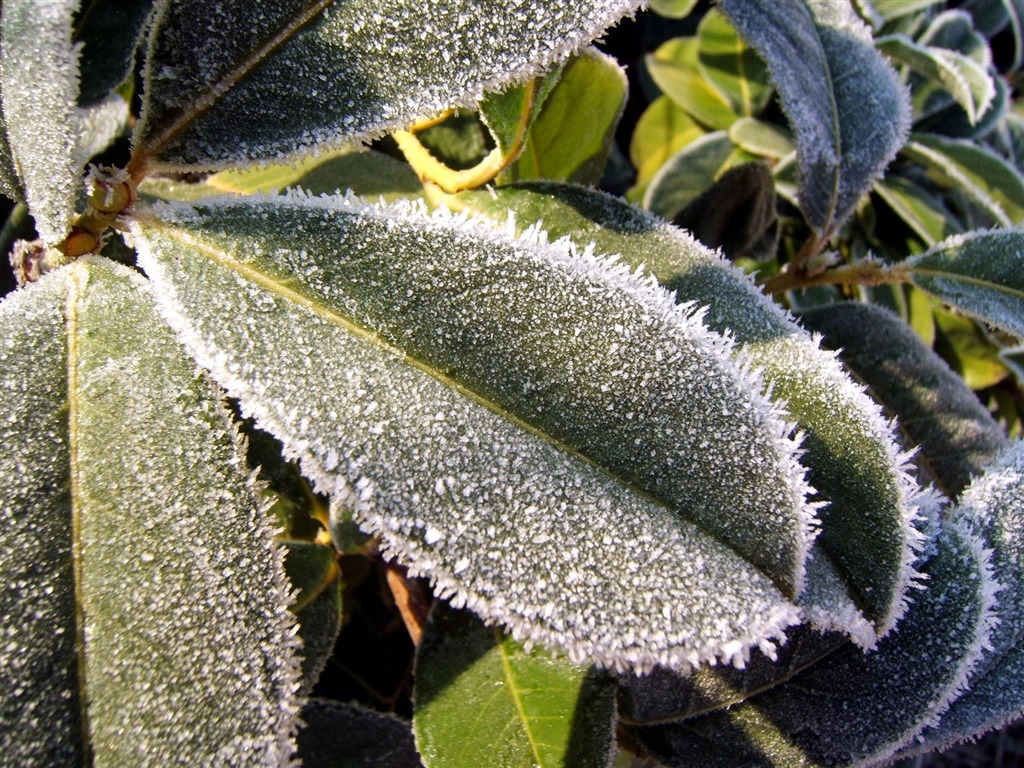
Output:
M65 279L0 303L0 755L81 764Z

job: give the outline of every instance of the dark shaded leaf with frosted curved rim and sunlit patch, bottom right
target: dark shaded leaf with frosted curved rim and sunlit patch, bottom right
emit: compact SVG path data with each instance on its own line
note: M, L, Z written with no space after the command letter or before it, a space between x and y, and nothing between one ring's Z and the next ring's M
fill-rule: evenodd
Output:
M728 710L641 729L641 743L672 768L890 760L964 691L992 629L988 553L957 526L938 544L928 588L874 651L848 645Z

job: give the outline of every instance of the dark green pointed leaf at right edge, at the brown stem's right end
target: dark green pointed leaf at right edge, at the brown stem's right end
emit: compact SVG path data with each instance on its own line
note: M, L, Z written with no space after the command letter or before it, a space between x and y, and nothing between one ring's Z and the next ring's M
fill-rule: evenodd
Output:
M991 229L953 236L901 266L921 290L1024 337L1022 253L1024 231Z

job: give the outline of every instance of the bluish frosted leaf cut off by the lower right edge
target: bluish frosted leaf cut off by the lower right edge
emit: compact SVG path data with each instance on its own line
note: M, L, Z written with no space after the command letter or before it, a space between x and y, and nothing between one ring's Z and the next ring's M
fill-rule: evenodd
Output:
M941 750L1024 714L1024 442L1015 442L968 487L953 513L992 548L1002 585L999 624L981 674L910 752Z

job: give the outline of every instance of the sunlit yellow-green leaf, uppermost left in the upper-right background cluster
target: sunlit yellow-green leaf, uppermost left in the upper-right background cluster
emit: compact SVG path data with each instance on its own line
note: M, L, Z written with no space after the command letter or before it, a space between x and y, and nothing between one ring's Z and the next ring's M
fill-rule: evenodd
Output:
M647 72L662 91L701 125L725 130L739 116L700 74L696 38L675 38L647 54Z

